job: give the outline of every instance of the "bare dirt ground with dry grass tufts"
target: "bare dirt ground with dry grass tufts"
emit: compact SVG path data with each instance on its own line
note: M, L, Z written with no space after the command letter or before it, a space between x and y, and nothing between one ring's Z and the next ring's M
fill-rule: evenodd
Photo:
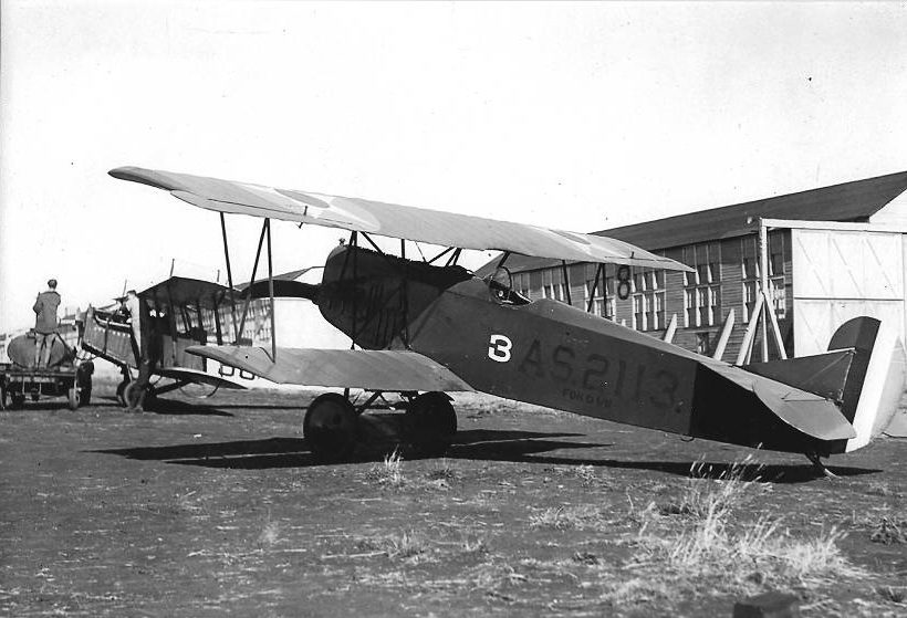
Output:
M127 415L114 386L0 412L0 615L730 616L779 590L803 616L907 616L907 440L828 481L470 396L446 459L320 465L311 392Z

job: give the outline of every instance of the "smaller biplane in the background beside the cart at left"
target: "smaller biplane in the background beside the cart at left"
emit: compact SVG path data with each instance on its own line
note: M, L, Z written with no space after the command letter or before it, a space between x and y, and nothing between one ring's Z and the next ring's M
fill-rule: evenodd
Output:
M169 276L123 296L119 307L88 307L82 348L119 368L123 380L116 397L124 407L138 384L136 374L142 359L149 356L152 348L157 349L152 370L155 383L142 396L148 409L155 406L158 395L186 391L189 385L202 387L197 389L200 396L212 395L218 388L244 388L208 371L207 359L187 352L207 345L209 339L216 344L236 341L228 334L229 323L221 323L221 310L232 306L231 292L210 281ZM234 369L228 373L232 375Z

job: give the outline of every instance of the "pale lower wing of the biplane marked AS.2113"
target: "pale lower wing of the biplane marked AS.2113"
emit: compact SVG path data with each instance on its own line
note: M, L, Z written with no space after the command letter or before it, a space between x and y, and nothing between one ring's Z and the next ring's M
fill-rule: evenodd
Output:
M192 346L188 353L278 384L369 390L472 390L444 365L395 349L278 348L278 362L260 347Z

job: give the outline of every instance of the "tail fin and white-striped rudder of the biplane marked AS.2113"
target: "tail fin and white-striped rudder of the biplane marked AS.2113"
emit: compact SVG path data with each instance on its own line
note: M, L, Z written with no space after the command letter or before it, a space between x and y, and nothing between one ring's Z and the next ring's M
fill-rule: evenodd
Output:
M842 324L828 350L746 369L834 401L856 432L834 450L849 452L883 432L897 411L905 389L904 346L890 325L864 316Z

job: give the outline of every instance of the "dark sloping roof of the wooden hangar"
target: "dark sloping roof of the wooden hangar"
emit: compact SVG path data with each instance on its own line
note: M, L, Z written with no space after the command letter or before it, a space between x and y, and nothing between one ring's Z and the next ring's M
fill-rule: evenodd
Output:
M805 221L866 222L907 190L907 171L821 187L796 193L676 214L593 232L636 244L648 251L740 235L755 218ZM497 263L497 259L489 264ZM507 266L513 272L560 264L560 260L511 255ZM477 271L482 274L486 264Z

